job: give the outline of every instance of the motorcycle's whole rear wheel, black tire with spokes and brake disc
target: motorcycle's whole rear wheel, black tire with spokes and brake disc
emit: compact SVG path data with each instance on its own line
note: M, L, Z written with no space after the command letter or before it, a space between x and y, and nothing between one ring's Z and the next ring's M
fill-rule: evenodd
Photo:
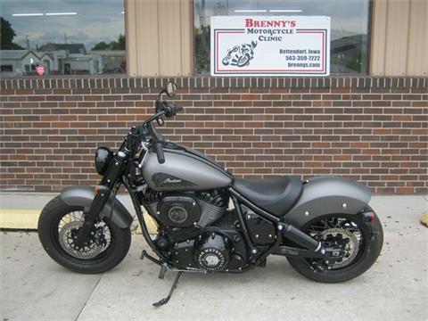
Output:
M292 268L317 282L339 283L360 276L382 251L383 228L375 214L371 223L358 215L331 214L315 218L300 229L327 246L340 245L344 251L337 259L287 257Z

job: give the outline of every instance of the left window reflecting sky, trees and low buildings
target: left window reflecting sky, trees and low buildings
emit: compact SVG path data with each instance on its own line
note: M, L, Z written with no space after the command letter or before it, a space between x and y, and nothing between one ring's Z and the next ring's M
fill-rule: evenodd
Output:
M0 12L0 62L14 76L40 64L46 75L126 73L123 0L2 0Z

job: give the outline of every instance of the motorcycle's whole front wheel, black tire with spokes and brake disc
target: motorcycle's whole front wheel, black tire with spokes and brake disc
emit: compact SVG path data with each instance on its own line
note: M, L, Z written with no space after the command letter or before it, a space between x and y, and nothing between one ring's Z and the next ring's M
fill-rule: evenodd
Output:
M116 267L128 253L130 228L119 228L108 219L97 221L82 246L75 241L83 225L83 207L53 198L38 219L38 237L49 256L78 273L102 273Z

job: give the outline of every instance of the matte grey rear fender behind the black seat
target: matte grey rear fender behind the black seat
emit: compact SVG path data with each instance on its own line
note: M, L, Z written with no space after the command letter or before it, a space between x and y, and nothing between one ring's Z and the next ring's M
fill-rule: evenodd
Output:
M314 177L303 185L299 201L284 216L286 223L304 226L326 214L357 214L370 202L366 186L343 177Z

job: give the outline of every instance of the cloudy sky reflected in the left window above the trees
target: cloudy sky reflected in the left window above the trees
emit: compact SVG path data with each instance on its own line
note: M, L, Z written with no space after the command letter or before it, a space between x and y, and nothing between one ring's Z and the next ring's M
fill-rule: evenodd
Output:
M9 21L16 36L13 41L22 47L45 45L48 42L84 43L90 50L96 43L110 43L125 34L123 0L1 0L0 15ZM20 13L76 12L73 15L24 16Z

